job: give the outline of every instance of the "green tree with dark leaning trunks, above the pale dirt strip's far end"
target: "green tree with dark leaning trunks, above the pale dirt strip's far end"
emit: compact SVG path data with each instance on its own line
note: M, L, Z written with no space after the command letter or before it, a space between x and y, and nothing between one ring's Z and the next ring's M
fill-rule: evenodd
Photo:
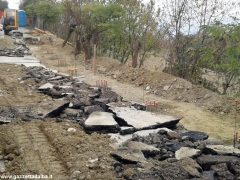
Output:
M93 45L100 44L100 35L114 28L121 15L121 7L105 1L76 1L65 0L65 14L70 16L71 23L76 25L76 53L82 47L85 62L91 59Z

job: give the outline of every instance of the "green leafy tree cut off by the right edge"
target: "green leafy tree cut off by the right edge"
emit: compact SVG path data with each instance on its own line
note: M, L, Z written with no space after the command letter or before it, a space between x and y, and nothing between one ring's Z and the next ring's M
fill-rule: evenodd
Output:
M208 45L202 53L202 67L223 76L223 94L240 77L240 25L216 24L207 27Z

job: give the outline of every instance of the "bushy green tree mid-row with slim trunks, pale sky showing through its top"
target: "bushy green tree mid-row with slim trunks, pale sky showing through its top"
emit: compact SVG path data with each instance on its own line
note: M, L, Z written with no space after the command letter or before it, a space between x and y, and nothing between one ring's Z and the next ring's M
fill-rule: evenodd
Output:
M132 67L141 67L145 58L158 47L159 32L155 11L155 1L142 3L140 0L116 0L114 3L123 8L123 15L115 29L107 32L105 51L114 58L126 63L132 58Z

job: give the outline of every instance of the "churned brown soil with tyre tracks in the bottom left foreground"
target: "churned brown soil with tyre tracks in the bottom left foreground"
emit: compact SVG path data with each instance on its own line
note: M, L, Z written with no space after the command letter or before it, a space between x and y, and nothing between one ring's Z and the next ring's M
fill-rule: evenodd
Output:
M77 131L69 133L68 128ZM50 120L9 124L0 130L0 150L8 160L5 175L38 174L56 180L114 177L107 136L88 135L79 125ZM92 159L98 159L98 163L89 166Z

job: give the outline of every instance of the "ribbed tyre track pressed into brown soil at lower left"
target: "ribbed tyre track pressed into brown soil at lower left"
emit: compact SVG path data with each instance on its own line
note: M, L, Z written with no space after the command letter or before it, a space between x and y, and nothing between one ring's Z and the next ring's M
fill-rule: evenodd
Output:
M55 148L48 141L38 124L30 123L13 127L15 140L22 151L26 172L52 175L56 180L67 180L67 170L57 157Z

